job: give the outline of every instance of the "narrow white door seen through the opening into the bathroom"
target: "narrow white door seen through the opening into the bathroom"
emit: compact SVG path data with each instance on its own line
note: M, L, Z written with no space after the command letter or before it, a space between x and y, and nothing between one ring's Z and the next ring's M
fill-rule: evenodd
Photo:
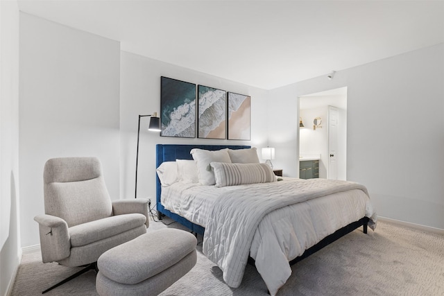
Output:
M337 180L338 108L328 106L328 170L327 179Z

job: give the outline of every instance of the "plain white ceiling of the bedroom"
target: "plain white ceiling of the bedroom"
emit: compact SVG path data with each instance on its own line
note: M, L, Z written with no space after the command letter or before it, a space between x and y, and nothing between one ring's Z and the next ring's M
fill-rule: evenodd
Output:
M121 50L262 89L444 42L444 1L18 0Z

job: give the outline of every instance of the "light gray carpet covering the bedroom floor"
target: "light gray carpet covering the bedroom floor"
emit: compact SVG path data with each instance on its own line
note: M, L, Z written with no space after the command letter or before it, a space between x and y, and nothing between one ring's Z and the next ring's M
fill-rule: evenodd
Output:
M167 221L167 220L166 220ZM152 222L148 232L164 226ZM173 223L169 227L180 226ZM376 232L362 228L293 265L293 273L278 295L444 295L444 236L390 223ZM201 241L201 238L200 238ZM25 254L12 295L40 295L78 268L41 262L40 252ZM95 272L87 272L46 295L97 295ZM222 272L202 254L187 275L161 294L267 295L255 267L247 265L239 288L224 284Z

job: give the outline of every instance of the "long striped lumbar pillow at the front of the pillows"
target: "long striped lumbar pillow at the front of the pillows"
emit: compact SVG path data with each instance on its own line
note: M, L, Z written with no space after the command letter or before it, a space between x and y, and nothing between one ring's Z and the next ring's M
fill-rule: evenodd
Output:
M275 182L276 176L267 164L228 164L211 162L216 187Z

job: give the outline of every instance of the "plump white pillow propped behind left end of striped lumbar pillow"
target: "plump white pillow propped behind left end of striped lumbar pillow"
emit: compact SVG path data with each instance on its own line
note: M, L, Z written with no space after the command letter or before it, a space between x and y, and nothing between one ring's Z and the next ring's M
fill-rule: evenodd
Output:
M210 166L211 162L231 163L227 148L215 151L194 148L191 149L190 153L193 155L193 159L196 160L198 178L202 185L214 185L216 183Z

